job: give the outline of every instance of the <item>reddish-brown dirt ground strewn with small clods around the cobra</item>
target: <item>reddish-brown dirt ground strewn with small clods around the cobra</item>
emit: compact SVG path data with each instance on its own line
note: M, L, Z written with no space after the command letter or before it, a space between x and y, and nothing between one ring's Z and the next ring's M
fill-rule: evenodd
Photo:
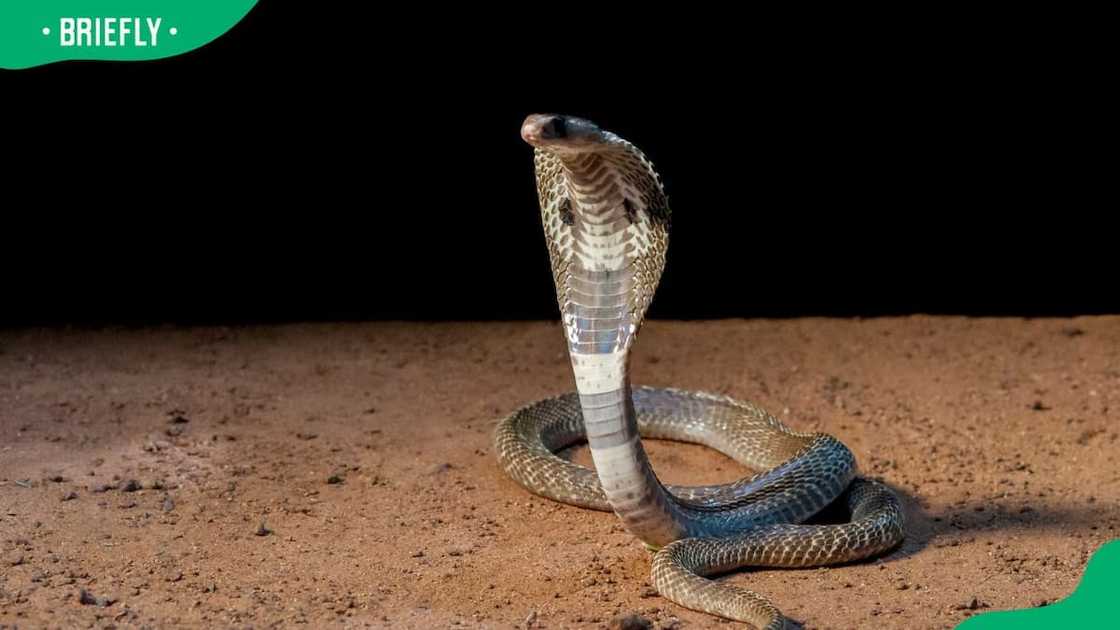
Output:
M1120 537L1120 317L654 321L633 373L831 433L905 495L883 558L726 577L806 628L1053 602ZM571 387L553 323L0 332L0 627L726 627L653 593L613 515L497 469L495 420Z

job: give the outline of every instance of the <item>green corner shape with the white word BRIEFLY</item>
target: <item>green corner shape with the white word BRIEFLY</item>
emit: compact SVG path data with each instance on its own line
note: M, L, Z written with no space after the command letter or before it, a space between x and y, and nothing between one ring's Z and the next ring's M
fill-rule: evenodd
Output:
M254 4L256 0L0 0L0 68L21 70L71 59L139 62L181 55L217 39ZM75 19L72 30L64 28L68 26L64 20L71 18ZM91 45L65 46L67 33L75 35L72 44L86 43L86 38L76 37L78 18L90 19ZM108 22L106 18L128 18L129 27L137 26L132 20L139 18L139 37L130 33L121 38L119 22ZM153 37L151 27L157 18ZM102 28L102 45L93 45L95 25L106 24L115 34L109 36ZM49 29L48 35L44 28ZM172 28L176 35L171 35ZM119 45L109 46L110 40Z

